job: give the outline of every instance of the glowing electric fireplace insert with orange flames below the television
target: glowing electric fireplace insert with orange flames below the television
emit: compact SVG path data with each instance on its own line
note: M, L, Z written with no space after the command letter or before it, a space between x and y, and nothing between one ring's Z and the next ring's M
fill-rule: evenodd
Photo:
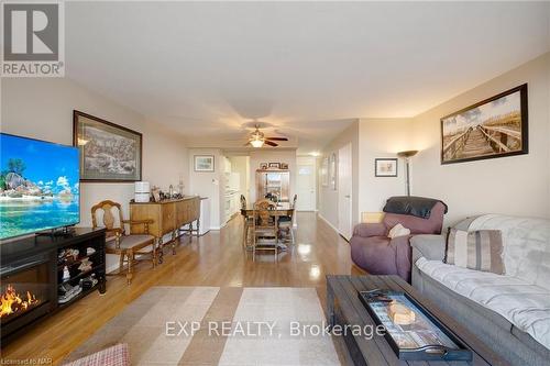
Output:
M42 253L0 267L2 337L55 307L56 288L52 259L51 253Z

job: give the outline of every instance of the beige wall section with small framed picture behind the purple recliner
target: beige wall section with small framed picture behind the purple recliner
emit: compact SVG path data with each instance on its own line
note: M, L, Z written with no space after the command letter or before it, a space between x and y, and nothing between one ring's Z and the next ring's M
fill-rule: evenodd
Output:
M359 212L382 211L392 196L406 195L405 160L397 160L397 177L375 177L375 158L396 158L413 149L410 119L361 119L359 123Z

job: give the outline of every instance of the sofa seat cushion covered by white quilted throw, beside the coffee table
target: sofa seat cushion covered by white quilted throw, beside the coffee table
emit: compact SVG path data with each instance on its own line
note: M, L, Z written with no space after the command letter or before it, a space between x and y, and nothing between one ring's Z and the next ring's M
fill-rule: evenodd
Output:
M420 271L449 289L503 315L550 350L550 291L520 278L420 258Z

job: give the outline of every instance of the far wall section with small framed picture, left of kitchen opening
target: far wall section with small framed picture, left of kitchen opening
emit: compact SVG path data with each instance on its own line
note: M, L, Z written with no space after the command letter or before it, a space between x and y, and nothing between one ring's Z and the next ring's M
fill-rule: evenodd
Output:
M215 171L195 171L195 155L213 155ZM220 230L223 224L224 162L219 148L189 149L189 192L210 199L210 229Z

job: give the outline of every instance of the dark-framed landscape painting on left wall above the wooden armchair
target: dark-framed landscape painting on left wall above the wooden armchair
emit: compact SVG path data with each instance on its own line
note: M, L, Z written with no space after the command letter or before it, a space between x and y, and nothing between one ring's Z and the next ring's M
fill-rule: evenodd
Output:
M80 181L141 180L141 133L73 111L73 145L80 151Z

